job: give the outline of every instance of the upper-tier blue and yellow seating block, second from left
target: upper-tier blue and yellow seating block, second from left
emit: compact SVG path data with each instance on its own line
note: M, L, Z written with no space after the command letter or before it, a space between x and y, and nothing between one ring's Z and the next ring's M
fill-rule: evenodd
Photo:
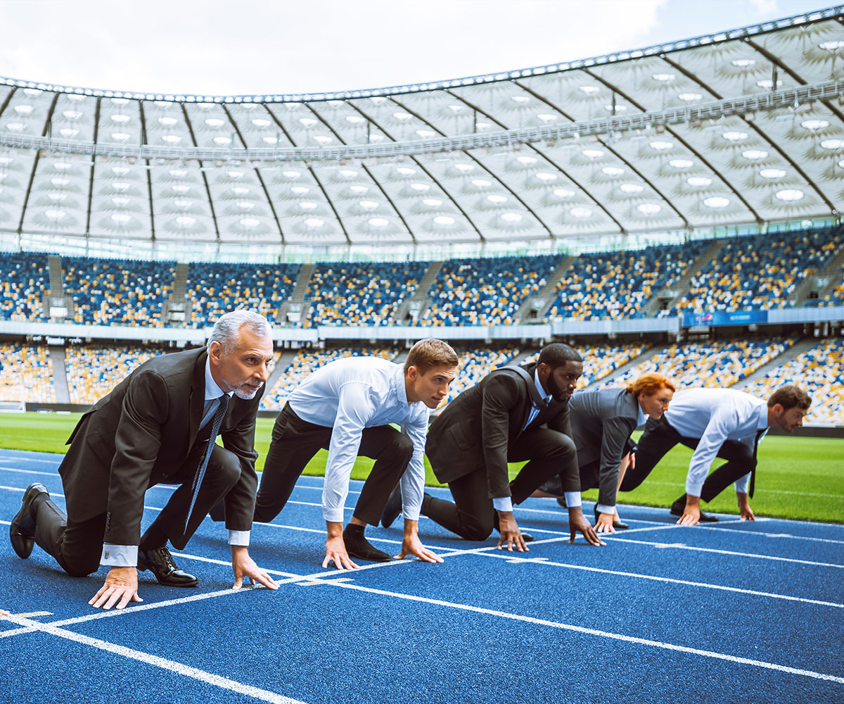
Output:
M173 291L175 261L62 257L73 322L162 327L161 306Z

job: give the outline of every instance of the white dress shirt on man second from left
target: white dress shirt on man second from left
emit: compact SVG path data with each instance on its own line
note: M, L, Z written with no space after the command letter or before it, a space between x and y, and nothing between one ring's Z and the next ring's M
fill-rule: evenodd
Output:
M395 423L414 444L414 454L402 476L402 513L419 521L425 491L425 437L429 408L408 402L404 366L380 357L344 357L327 363L309 376L288 398L302 420L333 428L328 445L322 516L343 522L349 477L364 428Z

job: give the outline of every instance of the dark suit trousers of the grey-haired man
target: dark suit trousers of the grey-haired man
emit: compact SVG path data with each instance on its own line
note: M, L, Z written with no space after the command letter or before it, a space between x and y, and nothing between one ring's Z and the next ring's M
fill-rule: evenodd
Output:
M168 483L181 486L170 495L153 521L153 525L159 527L173 547L178 549L187 545L208 510L228 494L241 477L241 461L238 457L214 445L186 531L185 519L191 505L193 475L207 447L207 440L194 445L181 467L167 478ZM106 532L106 513L85 521L76 521L73 516L65 516L51 499L38 500L34 511L35 543L51 554L62 570L70 576L84 577L99 569L103 534Z

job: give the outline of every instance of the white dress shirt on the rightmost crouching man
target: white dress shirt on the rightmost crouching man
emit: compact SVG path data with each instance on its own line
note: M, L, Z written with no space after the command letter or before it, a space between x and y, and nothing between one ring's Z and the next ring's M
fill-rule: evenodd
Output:
M701 439L686 476L686 494L700 496L724 440L738 440L753 451L757 431L768 427L768 405L734 389L686 389L674 394L665 420L684 438ZM747 494L749 478L748 472L736 481L737 492Z

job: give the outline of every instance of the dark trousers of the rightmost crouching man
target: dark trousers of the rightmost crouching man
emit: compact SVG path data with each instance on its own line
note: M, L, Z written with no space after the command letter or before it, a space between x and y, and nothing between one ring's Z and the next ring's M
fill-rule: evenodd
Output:
M663 459L674 445L685 445L695 450L700 442L700 438L684 438L664 417L658 421L648 418L645 432L636 445L636 467L627 468L621 491L632 491L644 482L647 475L657 466L657 462ZM701 489L703 501L711 501L756 466L753 449L738 440L724 440L717 456L727 461L706 477Z

